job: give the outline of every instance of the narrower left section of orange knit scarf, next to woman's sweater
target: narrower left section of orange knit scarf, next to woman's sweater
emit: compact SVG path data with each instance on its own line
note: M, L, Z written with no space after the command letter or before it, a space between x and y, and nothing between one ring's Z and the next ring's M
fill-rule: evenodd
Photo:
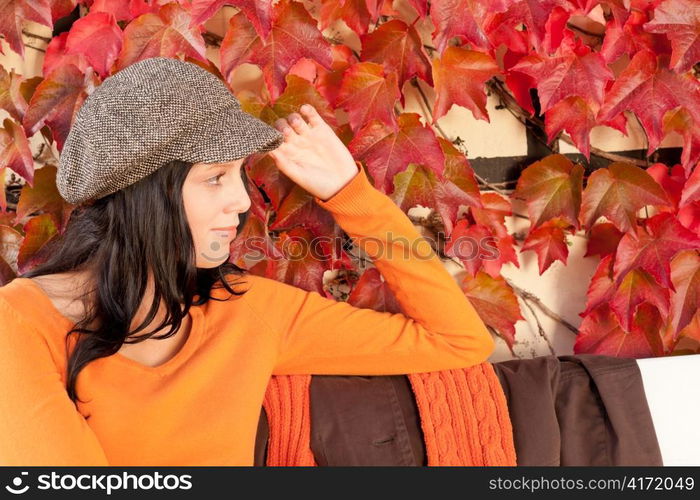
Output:
M316 466L311 451L311 375L276 375L263 399L270 438L269 466Z

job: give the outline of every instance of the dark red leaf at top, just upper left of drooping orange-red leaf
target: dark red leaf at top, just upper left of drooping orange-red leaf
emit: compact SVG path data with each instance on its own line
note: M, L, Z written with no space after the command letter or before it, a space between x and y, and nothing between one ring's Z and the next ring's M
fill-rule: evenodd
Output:
M414 76L433 85L430 57L414 24L408 26L400 19L392 19L360 38L362 61L382 64L385 73L396 74L399 89ZM400 96L401 106L405 107L405 96Z

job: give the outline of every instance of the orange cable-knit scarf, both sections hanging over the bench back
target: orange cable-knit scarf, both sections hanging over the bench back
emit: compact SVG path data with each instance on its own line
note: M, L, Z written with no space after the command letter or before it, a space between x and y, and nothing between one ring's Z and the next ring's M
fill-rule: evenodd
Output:
M408 375L429 466L516 465L508 404L493 366ZM311 375L276 375L263 406L269 466L316 466L311 451Z

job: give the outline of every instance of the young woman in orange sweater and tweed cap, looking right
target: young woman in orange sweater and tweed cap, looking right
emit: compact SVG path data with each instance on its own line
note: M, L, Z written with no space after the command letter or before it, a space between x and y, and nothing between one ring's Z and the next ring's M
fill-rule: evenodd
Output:
M86 99L57 185L77 208L0 288L0 464L252 465L275 374L392 375L494 342L430 245L308 105L275 128L201 67L151 58ZM269 152L374 260L406 313L228 262Z

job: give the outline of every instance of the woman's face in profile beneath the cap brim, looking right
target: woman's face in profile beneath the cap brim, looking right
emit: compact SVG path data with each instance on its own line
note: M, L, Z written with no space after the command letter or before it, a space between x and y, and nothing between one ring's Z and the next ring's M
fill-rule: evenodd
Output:
M239 214L250 208L242 177L245 159L196 163L185 179L182 199L199 268L217 267L229 258L229 245L236 230L217 228L237 228Z

